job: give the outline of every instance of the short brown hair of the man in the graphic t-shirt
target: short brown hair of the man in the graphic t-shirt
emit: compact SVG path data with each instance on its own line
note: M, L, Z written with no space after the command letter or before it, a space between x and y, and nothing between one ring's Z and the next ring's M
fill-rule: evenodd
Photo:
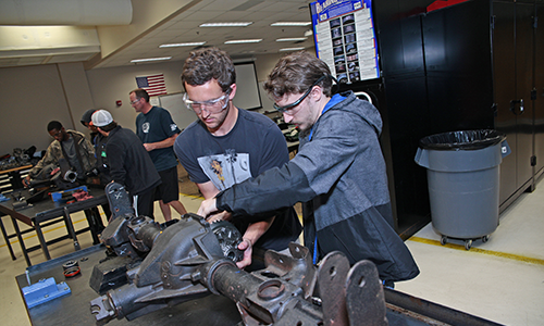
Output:
M231 85L236 83L236 71L231 57L225 51L219 48L205 48L189 53L181 78L184 86L185 83L198 86L215 79L221 89L227 92Z

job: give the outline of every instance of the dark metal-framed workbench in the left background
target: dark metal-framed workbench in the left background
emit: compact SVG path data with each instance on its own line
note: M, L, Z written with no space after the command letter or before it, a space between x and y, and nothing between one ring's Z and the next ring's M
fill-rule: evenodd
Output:
M25 189L17 191L21 191L21 196L29 198L28 190ZM9 215L11 217L11 221L13 223L13 228L15 230L15 234L8 235L0 217L0 228L5 239L8 249L10 250L12 260L15 260L15 255L13 253L13 249L10 243L10 238L13 237L16 237L18 239L18 242L21 244L21 250L23 251L23 255L28 266L32 266L30 259L28 258L28 252L41 249L46 260L50 260L51 255L49 254L47 246L62 241L64 239L73 239L75 250L79 250L81 248L79 248L79 242L77 240L77 235L85 231L90 231L92 236L92 242L98 243L99 242L98 233L100 231L100 226L97 225L96 222L98 221L98 218L100 218L100 214L96 208L98 205L108 203L108 199L104 195L103 189L101 188L89 189L89 195L92 196L92 198L84 201L76 201L74 203L53 202L51 199L44 199L23 209L13 208L13 202L14 202L13 198L11 198L9 201L0 202L0 216ZM8 195L7 197L10 198L11 196ZM72 223L70 214L79 211L85 211L85 216L87 217L89 226L76 231L74 229L74 225ZM18 227L18 222L22 222L30 226L32 229L26 229L22 231ZM46 241L44 237L42 227L60 222L64 222L66 226L66 235ZM36 231L39 244L26 248L23 240L23 234L33 230Z

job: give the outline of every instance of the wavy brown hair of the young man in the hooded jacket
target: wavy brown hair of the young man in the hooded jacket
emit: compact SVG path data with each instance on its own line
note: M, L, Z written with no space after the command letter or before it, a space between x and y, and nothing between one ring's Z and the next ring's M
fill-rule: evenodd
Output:
M302 93L323 75L327 77L318 85L325 96L331 97L333 80L326 63L306 51L290 53L276 63L264 83L264 90L274 99Z

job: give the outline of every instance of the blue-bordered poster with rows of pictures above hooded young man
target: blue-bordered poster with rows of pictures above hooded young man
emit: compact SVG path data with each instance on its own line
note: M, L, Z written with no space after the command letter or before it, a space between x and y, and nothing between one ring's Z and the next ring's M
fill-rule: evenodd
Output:
M310 8L316 53L338 83L380 77L372 0L318 0Z

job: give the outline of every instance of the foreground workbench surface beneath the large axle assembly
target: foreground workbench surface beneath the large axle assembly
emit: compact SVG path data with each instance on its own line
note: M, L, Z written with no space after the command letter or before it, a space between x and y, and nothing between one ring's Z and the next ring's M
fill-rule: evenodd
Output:
M32 325L95 325L95 315L90 313L90 301L100 297L89 287L94 266L106 258L103 244L89 247L67 255L57 258L26 268L32 283L41 278L54 277L57 284L65 281L71 293L52 301L27 309ZM65 278L62 264L78 261L81 275ZM25 274L15 277L20 289L28 286ZM23 294L21 294L23 299ZM387 319L391 326L423 325L466 325L497 326L498 324L459 312L436 303L415 298L409 294L385 289ZM26 304L26 303L25 303ZM363 303L361 303L363 304ZM107 325L206 325L236 326L242 321L236 304L226 297L209 294L207 297L180 303L154 311L136 319L114 319Z

